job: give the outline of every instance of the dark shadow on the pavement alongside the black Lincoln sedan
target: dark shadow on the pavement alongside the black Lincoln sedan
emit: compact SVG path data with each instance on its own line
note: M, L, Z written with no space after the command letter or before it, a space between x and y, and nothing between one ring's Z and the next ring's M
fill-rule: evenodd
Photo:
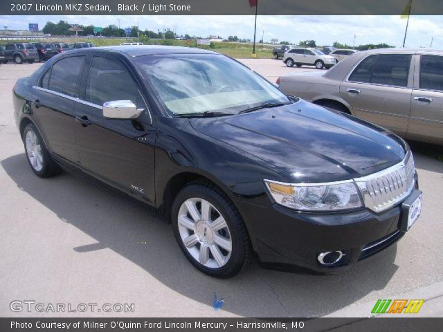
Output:
M313 317L334 313L385 288L398 268L394 263L397 246L393 245L381 255L336 275L284 273L255 264L231 279L215 279L186 260L170 225L138 205L78 176L62 173L55 178L38 178L24 154L6 158L1 165L20 190L57 214L62 222L95 239L73 248L75 255L109 248L197 302L212 305L217 292L225 299L224 311L235 315ZM50 239L45 234L45 241Z

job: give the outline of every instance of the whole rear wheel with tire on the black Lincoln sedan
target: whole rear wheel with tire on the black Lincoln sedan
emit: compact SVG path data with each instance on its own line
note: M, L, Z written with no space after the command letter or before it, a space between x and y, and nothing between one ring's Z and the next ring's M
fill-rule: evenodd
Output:
M23 132L26 158L33 172L41 178L60 174L60 166L51 158L37 127L30 123Z

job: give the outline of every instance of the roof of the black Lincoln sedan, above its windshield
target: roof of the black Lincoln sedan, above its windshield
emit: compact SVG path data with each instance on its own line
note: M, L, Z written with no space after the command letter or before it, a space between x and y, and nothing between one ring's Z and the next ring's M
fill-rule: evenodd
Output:
M100 46L94 48L79 48L78 50L73 50L73 52L96 52L100 50L124 53L125 55L129 55L129 57L159 54L218 54L210 50L202 50L201 48L159 45Z

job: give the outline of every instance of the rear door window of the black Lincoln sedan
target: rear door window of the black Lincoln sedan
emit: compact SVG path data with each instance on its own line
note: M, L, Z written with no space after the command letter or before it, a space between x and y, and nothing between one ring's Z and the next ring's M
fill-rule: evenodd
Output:
M82 73L84 56L66 57L56 62L51 70L48 89L71 97L78 97L78 80Z

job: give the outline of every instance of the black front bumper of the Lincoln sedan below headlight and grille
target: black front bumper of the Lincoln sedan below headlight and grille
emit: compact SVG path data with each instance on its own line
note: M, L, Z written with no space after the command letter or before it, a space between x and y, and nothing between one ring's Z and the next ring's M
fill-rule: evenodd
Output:
M414 190L404 201L418 193ZM352 266L395 243L404 235L407 219L403 202L380 214L368 209L320 214L277 204L236 205L263 263L302 266L321 273ZM320 252L338 250L345 255L337 264L323 266L318 261Z

